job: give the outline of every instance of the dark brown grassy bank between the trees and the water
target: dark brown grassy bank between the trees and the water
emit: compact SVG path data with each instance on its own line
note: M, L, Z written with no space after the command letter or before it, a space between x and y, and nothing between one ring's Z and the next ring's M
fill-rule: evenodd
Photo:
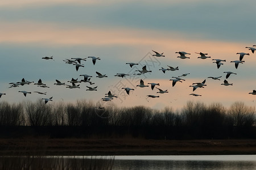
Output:
M256 155L256 140L0 139L0 155Z

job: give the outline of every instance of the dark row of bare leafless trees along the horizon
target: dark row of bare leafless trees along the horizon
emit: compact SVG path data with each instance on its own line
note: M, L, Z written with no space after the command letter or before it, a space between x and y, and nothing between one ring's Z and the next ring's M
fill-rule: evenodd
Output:
M255 109L188 101L182 109L23 101L0 103L0 137L228 139L256 138Z

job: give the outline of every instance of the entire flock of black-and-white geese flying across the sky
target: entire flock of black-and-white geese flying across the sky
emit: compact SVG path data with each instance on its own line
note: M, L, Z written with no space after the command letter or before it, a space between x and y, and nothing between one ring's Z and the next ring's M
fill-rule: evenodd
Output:
M253 45L253 46L256 46L256 45ZM247 47L249 50L251 50L252 53L254 53L254 51L256 50L256 48L254 47ZM154 50L152 50L155 54L153 54L152 56L155 56L155 57L165 57L163 55L163 53L158 53L158 52L155 52ZM179 53L180 56L178 56L177 58L181 58L181 59L189 59L190 57L187 57L186 55L189 55L191 53L187 53L187 52L176 52L176 53ZM200 54L200 57L197 57L197 58L200 58L200 59L207 59L207 58L211 58L210 56L207 56L208 54L207 53L196 53L196 54ZM245 55L250 55L249 53L237 53L237 54L240 54L240 58L239 60L234 60L234 61L230 61L230 62L234 62L235 64L235 67L236 69L238 68L238 65L240 63L243 63L245 62L243 60L243 57ZM93 62L93 65L96 64L96 61L97 59L100 60L100 57L87 57L87 58L92 58L92 62ZM81 64L81 61L86 61L87 58L71 58L71 59L64 59L63 61L67 64L71 64L71 65L74 65L75 68L76 68L76 71L79 70L79 67L84 67L83 64ZM53 56L51 57L43 57L42 59L53 59ZM220 68L221 65L223 65L224 63L223 62L226 62L225 59L212 59L214 62L213 63L216 63L217 65L217 69ZM139 63L133 63L133 62L127 62L126 63L127 65L129 65L130 67L133 67L134 65L139 65ZM167 65L168 66L168 65ZM163 73L166 73L166 71L175 71L175 70L179 70L179 67L171 67L171 66L168 66L167 69L163 68L162 69L159 69L160 71L163 71ZM146 73L150 73L152 72L151 70L147 70L146 68L146 65L142 67L142 70L135 70L135 71L138 71L139 73L134 73L133 75L142 75L142 74L146 74ZM231 71L225 71L224 73L226 73L226 79L229 78L229 76L231 74L236 74L236 73L233 73ZM97 74L97 78L105 78L105 77L108 77L106 76L106 74L101 74L99 73L98 71L96 71L96 74ZM182 81L185 81L185 79L182 79L181 77L183 76L187 76L189 75L190 73L186 73L186 74L182 74L180 76L172 76L172 78L174 79L170 79L172 81L172 87L175 86L175 84L177 82L182 82ZM116 75L114 76L118 76L118 77L121 77L123 78L124 76L126 75L129 75L129 74L125 74L125 73L117 73ZM69 83L71 83L72 85L69 85L69 84L65 84L63 82L60 82L59 80L56 79L56 83L54 83L56 86L66 86L66 88L80 88L80 84L76 85L77 83L81 83L81 82L86 82L86 83L89 83L90 85L94 84L93 82L90 81L90 78L92 76L90 75L87 75L87 74L80 74L80 76L84 76L84 79L81 79L81 80L77 80L77 79L71 79L71 81L68 81ZM213 76L209 76L208 78L212 78L213 80L220 80L221 76L217 76L217 77L213 77ZM228 80L224 80L224 83L222 83L221 85L224 85L224 86L232 86L233 83L229 83ZM205 84L206 82L206 79L203 80L203 82L199 82L199 83L192 83L191 86L189 87L193 87L193 91L195 91L197 88L204 88L204 86L207 86L207 84ZM34 83L34 82L30 82L28 80L25 80L24 78L21 80L21 82L15 82L15 83L9 83L11 84L9 88L13 88L13 87L19 87L19 86L24 86L26 84L31 84L31 83ZM43 87L43 88L49 88L46 84L44 84L42 82L41 79L38 80L37 83L34 83L35 85L38 85L39 87ZM144 81L141 79L140 80L140 83L137 85L137 87L141 87L141 88L144 88L144 87L149 87L151 86L151 89L154 90L154 87L155 86L160 86L159 83L147 83L147 84L150 84L150 85L145 85L144 84ZM90 87L90 86L86 86L88 89L86 89L86 91L97 91L97 86L96 87ZM156 92L156 93L159 93L159 94L165 94L165 93L168 93L167 90L162 90L158 87L156 87L159 91ZM134 90L134 88L129 88L129 87L122 87L123 90L126 91L126 93L129 95L130 94L130 91L131 90ZM27 92L27 91L19 91L19 92L22 92L24 96L27 96L27 94L31 94L31 92ZM41 94L41 95L46 95L46 92L39 92L39 91L34 91L35 93L38 93L38 94ZM249 94L252 94L252 95L256 95L256 90L253 90L253 92L250 92ZM5 93L0 93L0 97L2 95L6 95ZM111 91L109 91L107 94L105 94L106 96L105 97L102 97L102 101L111 101L114 99L114 97L117 97L116 95L112 94ZM193 95L193 96L201 96L201 95L198 95L198 94L189 94L189 95ZM155 97L159 97L159 96L156 96L156 95L147 95L147 97L152 97L152 98L155 98ZM52 97L49 97L49 98L42 98L42 100L45 101L45 103L47 103L48 101L52 101ZM101 108L101 107L99 107Z

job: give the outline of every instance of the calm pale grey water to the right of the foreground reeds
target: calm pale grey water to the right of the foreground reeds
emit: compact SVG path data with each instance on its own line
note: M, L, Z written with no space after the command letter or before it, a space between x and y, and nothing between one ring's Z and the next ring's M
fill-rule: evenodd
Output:
M113 169L256 169L256 155L115 156Z

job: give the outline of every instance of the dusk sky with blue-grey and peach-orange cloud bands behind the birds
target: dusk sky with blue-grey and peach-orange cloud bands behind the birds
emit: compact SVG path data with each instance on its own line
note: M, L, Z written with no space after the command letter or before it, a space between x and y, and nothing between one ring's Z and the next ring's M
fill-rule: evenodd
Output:
M256 2L251 1L71 1L24 0L0 2L0 92L6 93L0 101L18 103L36 101L53 96L52 103L92 100L100 105L115 104L120 107L144 105L154 109L183 108L187 101L205 104L221 103L229 107L236 101L255 106L256 52L246 46L256 45ZM164 53L154 57L152 50ZM177 58L175 52L191 53L189 59ZM208 53L211 58L200 59L195 52ZM230 61L239 60L238 52L250 53L244 63L234 67ZM53 60L42 57L53 56ZM63 59L72 57L100 57L96 65L92 59L82 61L84 67L76 71ZM226 59L217 69L212 59ZM126 62L139 65L131 68ZM132 75L146 65L152 73ZM179 67L166 71L161 67ZM96 71L108 78L97 78ZM222 86L224 71L232 71L227 79L233 86ZM117 73L130 76L119 78ZM190 73L172 87L172 76ZM55 79L65 82L82 79L80 74L92 75L92 86L81 83L80 88L69 89L54 85ZM222 76L213 80L208 76ZM22 78L34 82L42 79L49 88L30 84L9 88L11 82ZM157 94L150 87L137 87L144 83L159 83L158 88L168 94ZM206 80L205 88L192 93L192 83ZM150 85L150 84L149 84ZM86 91L86 86L97 91ZM130 95L122 87L134 88ZM31 91L27 97L18 91ZM47 92L40 95L34 91ZM102 101L108 91L118 96L111 102ZM147 98L147 95L160 96ZM255 102L254 102L255 100Z

